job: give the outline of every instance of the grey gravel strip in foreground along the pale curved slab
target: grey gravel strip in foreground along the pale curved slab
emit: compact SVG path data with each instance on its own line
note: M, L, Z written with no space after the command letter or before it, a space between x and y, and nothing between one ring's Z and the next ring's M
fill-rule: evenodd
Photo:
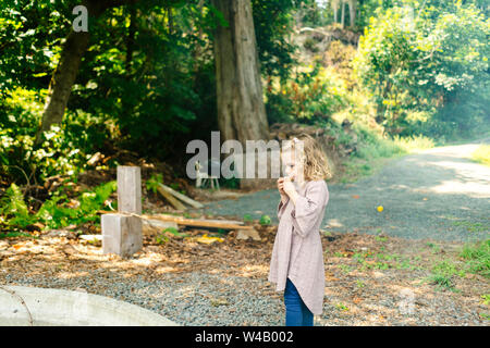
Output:
M284 325L282 298L260 295L264 279L191 272L158 279L83 276L75 279L5 275L5 284L86 289L149 309L180 325ZM3 283L3 282L2 282Z

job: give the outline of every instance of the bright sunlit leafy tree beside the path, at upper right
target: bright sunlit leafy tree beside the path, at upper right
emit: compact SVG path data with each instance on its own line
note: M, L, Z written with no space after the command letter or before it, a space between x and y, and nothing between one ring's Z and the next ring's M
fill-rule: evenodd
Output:
M359 41L354 66L378 119L389 132L402 134L426 127L426 134L441 135L450 127L461 133L483 125L489 20L458 1L413 5L420 13L414 18L409 8L379 8ZM425 115L411 120L411 112Z

